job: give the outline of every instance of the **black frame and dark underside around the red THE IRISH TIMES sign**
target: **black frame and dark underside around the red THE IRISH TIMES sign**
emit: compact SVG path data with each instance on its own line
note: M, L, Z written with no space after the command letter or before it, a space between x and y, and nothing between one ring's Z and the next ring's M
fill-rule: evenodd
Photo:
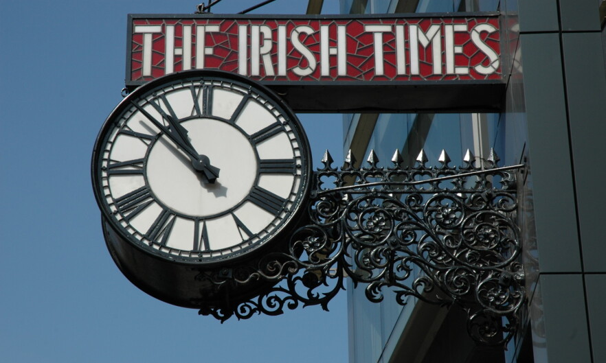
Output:
M257 80L278 93L297 112L493 112L504 104L506 65L503 24L499 12L460 12L426 14L128 14L126 39L126 78L129 91L147 81L131 80L133 21L137 19L213 19L213 20L377 20L377 19L457 19L494 18L499 23L500 79L493 80ZM212 68L209 68L212 69ZM175 72L179 73L179 72Z

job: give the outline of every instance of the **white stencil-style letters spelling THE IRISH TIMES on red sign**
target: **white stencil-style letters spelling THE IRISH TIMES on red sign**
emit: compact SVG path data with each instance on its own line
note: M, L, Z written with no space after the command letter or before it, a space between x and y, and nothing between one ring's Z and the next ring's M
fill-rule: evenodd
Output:
M348 50L353 53L363 49L357 56L352 54L352 57L355 57L352 61L367 62L368 57L372 56L374 69L364 71L374 72L374 75L465 75L469 74L471 69L481 75L489 75L500 67L498 51L491 47L491 41L486 40L487 35L497 32L497 27L490 23L480 23L471 30L467 24L446 21L433 21L423 25L423 28L420 23L409 24L406 21L397 21L396 24L361 25L367 32L363 37L372 39L372 55L369 54L371 49L368 49L370 42L354 46L361 38L348 38L351 36L347 34L348 25L337 25L334 22L320 23L317 27L298 25L290 28L290 33L289 27L292 25L284 23L238 24L234 25L238 27L238 40L234 41L235 38L230 38L232 34L227 34L227 42L223 34L218 34L221 33L221 27L217 24L133 25L133 36L141 34L137 36L136 43L133 40L133 54L136 51L140 57L133 59L133 65L134 70L139 71L137 61L140 61L140 72L144 77L151 76L153 71L157 72L158 69L154 69L154 66L158 67L158 63L164 67L165 74L172 73L175 69L205 69L209 67L205 65L207 56L220 58L227 50L230 55L227 60L231 65L229 69L240 75L278 75L282 79L295 75L301 78L317 70L316 74L323 78L331 75L340 78L353 70L348 69ZM423 30L425 26L427 30ZM164 44L154 43L154 37L161 39L162 35ZM389 44L386 43L386 38L390 39L387 42ZM348 42L352 45L350 49ZM484 54L484 62L469 64L469 57L464 54L463 45L465 52L480 52L480 56ZM158 62L153 56L154 52L163 52L161 47L164 47L164 60ZM220 54L215 54L216 51ZM237 53L237 60L232 58L236 56L234 53ZM473 59L476 58L482 57ZM234 64L236 62L237 64ZM385 69L386 65L390 68ZM372 67L372 61L369 66Z

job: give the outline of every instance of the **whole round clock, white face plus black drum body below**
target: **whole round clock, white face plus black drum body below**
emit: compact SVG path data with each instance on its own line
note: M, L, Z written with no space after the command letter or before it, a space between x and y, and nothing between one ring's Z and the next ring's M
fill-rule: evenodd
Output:
M106 119L92 180L123 274L174 305L236 303L274 285L307 220L311 151L293 111L264 86L184 71L140 86Z

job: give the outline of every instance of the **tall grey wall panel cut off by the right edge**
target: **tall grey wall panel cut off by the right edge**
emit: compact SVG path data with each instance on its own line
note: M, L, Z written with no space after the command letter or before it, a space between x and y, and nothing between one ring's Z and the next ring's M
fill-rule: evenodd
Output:
M576 198L585 272L606 272L603 215L606 74L600 33L562 34Z

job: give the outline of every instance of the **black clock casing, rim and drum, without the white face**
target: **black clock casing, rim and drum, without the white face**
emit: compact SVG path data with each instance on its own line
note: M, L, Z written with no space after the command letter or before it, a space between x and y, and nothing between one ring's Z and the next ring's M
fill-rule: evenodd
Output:
M208 253L203 250L192 250L190 252L190 256L183 256L175 255L174 253L170 252L164 252L159 248L152 248L150 247L151 243L146 244L142 242L142 240L133 236L131 233L128 233L128 231L126 231L122 225L117 223L115 218L112 216L113 213L109 209L109 205L104 200L105 196L102 195L102 151L104 150L104 145L106 144L111 130L115 128L115 122L124 117L125 113L128 112L128 108L132 107L133 102L148 99L153 95L154 90L166 89L166 87L170 86L170 84L191 82L192 80L199 80L201 83L203 83L204 80L224 80L225 82L236 84L243 89L247 89L249 91L249 95L251 93L256 93L262 99L271 102L271 105L278 109L280 115L287 120L289 126L292 128L292 132L296 138L300 151L299 156L293 156L292 166L293 174L296 173L295 168L300 168L300 192L295 197L295 200L293 200L289 209L288 207L284 207L284 204L287 203L287 200L284 200L284 202L282 202L282 206L280 207L280 211L278 212L286 212L287 215L282 218L280 222L275 225L271 231L269 231L269 233L260 239L257 239L255 242L247 244L247 241L258 236L257 233L250 235L249 238L243 241L241 244L221 250L231 250L234 247L242 246L238 250L235 250L227 255L221 254L213 256L212 253ZM178 121L181 123L195 117L199 116L184 117ZM230 123L228 119L223 119L221 117L212 115L203 115L203 117L229 123L230 126L243 133L245 137L249 139L249 142L251 142L257 161L256 176L253 187L251 187L252 191L256 187L260 175L262 174L262 169L264 167L262 165L262 161L273 161L260 159L258 151L255 147L255 143L252 140L256 134L248 136L248 134L246 134L242 128L234 123ZM284 124L280 125L279 127L284 130ZM276 126L276 128L278 128L278 126ZM234 207L231 207L230 209L221 213L216 213L216 215L205 216L203 218L192 218L191 215L185 215L177 211L172 211L172 209L161 202L157 196L153 195L153 191L149 187L148 176L146 175L148 154L150 150L152 150L154 143L158 141L162 134L163 132L161 131L155 135L153 139L149 140L146 156L144 157L141 165L141 173L144 176L145 187L148 191L150 191L153 200L157 202L157 204L159 204L163 209L168 209L172 214L198 222L199 220L232 213L241 204L252 198L251 194L249 193L243 200L234 205ZM300 165L296 165L294 162L296 158L300 158ZM291 167L290 165L282 166L285 169L289 169ZM226 265L230 266L230 268L234 266L249 266L250 264L257 264L258 259L262 258L263 255L269 252L276 250L286 252L288 250L288 236L290 233L308 221L305 209L306 200L308 199L311 190L312 176L311 149L309 147L304 129L291 108L285 104L278 95L267 89L265 86L262 86L240 75L216 70L190 70L172 73L140 86L136 91L123 99L122 102L120 102L120 104L118 104L118 106L116 106L116 108L111 112L109 117L107 117L96 139L91 163L93 191L98 205L102 211L102 228L104 231L104 237L111 256L113 257L118 268L120 268L122 273L131 282L133 282L133 284L144 290L144 292L147 292L148 294L173 305L194 308L201 308L208 304L216 305L222 301L225 301L226 298L229 298L229 296L227 296L228 290L231 290L230 292L232 292L232 294L234 291L237 291L236 295L238 297L231 298L232 302L236 302L245 301L245 299L251 298L252 296L258 294L258 291L271 288L271 286L275 285L276 281L257 281L256 283L250 283L247 285L235 283L232 289L225 287L217 289L216 285L203 281L203 279L199 278L199 275L201 273L211 273L223 276L224 274L222 273L222 270L225 270ZM271 207L268 206L267 209L269 211ZM278 215L279 214L276 215L276 219L278 218ZM275 221L276 220L274 220L274 222ZM197 282L192 283L192 281Z

